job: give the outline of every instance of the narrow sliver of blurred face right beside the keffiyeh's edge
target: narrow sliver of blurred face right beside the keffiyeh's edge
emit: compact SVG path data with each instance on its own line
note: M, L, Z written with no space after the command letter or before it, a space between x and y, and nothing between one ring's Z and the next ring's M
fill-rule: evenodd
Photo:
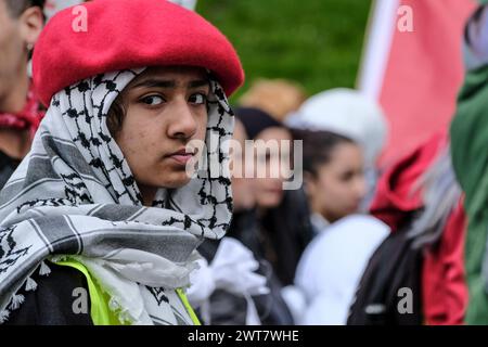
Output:
M231 150L231 172L232 172L232 197L234 201L234 209L236 211L242 209L253 208L255 206L255 196L253 180L245 178L244 160L245 160L245 140L247 139L244 126L235 120L234 147Z

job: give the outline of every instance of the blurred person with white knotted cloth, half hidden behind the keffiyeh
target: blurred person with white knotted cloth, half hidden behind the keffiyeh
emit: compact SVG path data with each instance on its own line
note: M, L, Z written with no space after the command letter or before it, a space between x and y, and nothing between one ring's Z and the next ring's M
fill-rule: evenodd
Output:
M280 281L260 253L254 180L244 172L247 134L239 118L233 139L232 222L222 240L208 240L198 247L208 264L193 273L188 297L206 324L291 325L294 321Z

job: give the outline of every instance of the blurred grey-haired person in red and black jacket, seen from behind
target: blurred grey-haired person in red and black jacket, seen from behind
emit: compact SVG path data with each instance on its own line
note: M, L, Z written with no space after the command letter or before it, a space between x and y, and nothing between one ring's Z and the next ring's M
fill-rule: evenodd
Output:
M464 323L462 202L446 133L433 136L382 175L371 214L391 233L368 264L348 324Z

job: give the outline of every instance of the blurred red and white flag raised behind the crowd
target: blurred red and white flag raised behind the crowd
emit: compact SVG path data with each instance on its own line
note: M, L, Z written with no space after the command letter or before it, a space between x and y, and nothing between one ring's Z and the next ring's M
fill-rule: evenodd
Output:
M385 166L447 129L463 79L464 24L475 0L377 0L358 89L378 100L389 121Z

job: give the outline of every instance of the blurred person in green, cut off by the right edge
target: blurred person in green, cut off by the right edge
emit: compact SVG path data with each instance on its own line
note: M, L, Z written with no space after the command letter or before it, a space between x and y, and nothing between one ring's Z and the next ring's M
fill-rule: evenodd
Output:
M464 85L450 127L452 165L465 194L466 324L488 324L488 5L479 5L464 33Z

